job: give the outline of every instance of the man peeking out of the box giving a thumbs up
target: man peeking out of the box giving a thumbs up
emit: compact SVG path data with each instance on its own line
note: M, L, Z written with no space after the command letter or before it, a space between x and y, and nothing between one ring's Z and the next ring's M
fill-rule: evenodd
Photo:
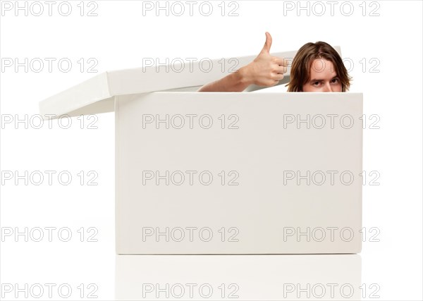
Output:
M269 54L271 42L271 35L266 32L266 43L254 61L204 85L198 92L241 92L249 85L276 85L287 72L288 61ZM350 80L341 56L331 45L307 43L293 59L288 92L345 92L350 88Z

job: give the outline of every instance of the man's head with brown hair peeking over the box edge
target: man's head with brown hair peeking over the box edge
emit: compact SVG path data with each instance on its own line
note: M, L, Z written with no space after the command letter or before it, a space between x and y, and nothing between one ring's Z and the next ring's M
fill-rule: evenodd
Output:
M331 45L307 43L293 59L288 92L345 92L350 80L341 56Z

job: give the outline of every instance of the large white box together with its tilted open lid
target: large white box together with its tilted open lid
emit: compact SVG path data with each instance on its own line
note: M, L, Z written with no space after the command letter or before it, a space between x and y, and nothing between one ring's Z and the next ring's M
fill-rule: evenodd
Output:
M181 92L223 77L218 61L104 73L40 103L115 110L116 252L360 252L362 94Z

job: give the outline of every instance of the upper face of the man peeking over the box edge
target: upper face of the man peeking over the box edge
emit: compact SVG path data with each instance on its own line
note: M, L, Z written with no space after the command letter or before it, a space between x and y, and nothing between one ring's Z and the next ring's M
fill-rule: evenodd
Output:
M331 61L315 59L310 70L310 80L302 85L303 92L342 92L341 81Z

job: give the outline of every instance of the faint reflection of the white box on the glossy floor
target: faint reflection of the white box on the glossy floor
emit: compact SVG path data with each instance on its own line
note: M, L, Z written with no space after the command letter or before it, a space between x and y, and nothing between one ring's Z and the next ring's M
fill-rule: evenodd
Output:
M115 297L116 300L154 300L165 295L168 300L360 300L361 271L359 254L116 255Z

